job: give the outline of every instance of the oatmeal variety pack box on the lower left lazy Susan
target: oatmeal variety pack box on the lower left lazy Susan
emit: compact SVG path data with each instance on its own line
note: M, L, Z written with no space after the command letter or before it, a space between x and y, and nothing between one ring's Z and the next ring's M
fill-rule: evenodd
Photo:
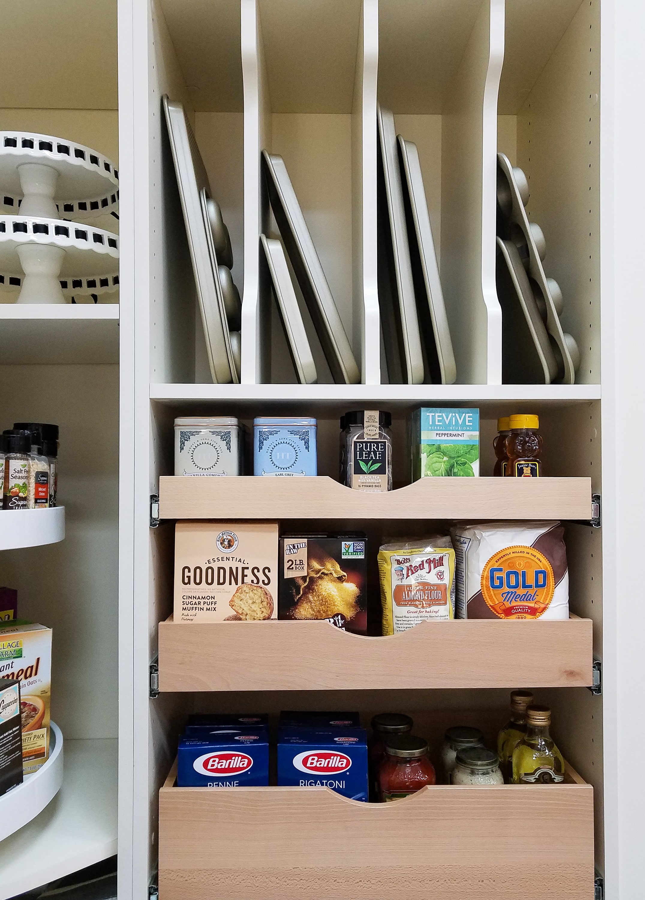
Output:
M30 775L49 757L51 628L0 622L0 678L20 681L22 771Z

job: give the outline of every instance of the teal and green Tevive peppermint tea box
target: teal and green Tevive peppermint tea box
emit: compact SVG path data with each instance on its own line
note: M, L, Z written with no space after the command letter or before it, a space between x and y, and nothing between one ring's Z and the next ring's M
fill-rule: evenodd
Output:
M479 475L479 410L422 407L409 435L413 482Z

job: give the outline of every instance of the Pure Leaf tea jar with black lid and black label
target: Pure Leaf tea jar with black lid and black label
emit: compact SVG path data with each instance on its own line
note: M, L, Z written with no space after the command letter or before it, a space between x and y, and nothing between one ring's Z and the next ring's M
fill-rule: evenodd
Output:
M345 413L341 432L342 482L354 491L392 490L392 417L379 410ZM341 419L341 424L343 419Z

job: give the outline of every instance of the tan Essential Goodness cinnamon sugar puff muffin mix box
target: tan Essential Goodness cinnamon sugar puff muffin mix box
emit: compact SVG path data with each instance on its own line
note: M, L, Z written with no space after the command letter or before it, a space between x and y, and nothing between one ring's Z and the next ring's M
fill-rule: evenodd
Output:
M175 622L277 617L274 522L177 522Z

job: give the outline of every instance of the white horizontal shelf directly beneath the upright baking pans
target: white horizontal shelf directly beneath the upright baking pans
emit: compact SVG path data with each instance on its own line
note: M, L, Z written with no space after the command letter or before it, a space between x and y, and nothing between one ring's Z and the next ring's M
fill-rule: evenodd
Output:
M285 390L286 387L286 390ZM285 400L288 395L288 401ZM420 403L495 404L506 401L567 406L600 400L599 384L160 384L150 400L198 404L204 401L388 403L412 409Z

